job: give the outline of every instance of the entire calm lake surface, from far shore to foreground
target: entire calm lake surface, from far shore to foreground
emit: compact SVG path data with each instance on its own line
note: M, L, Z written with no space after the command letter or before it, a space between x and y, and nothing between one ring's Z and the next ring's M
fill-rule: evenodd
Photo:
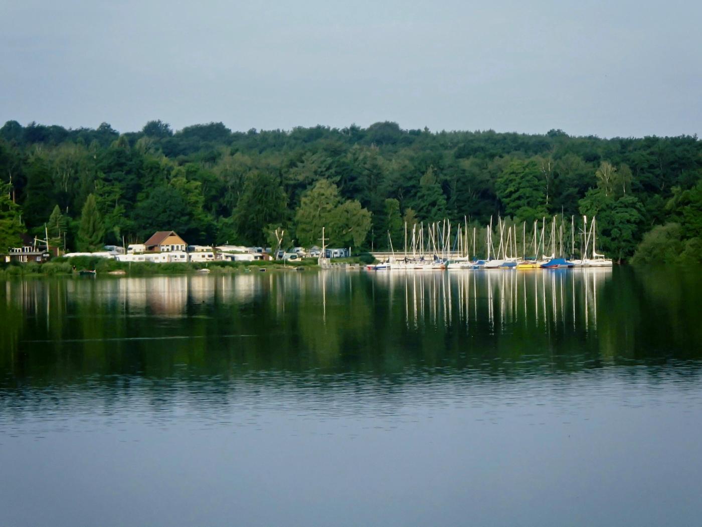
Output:
M0 282L2 526L696 526L702 273Z

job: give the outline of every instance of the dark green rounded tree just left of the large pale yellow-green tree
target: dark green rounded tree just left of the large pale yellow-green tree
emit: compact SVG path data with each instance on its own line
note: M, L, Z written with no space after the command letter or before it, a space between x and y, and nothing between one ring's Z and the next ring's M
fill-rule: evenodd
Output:
M283 219L286 204L287 196L277 177L266 172L248 174L234 211L237 233L246 243L265 243L265 228Z

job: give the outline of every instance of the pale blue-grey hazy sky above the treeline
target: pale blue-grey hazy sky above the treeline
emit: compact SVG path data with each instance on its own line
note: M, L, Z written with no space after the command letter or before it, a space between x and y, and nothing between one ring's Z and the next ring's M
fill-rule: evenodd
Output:
M702 2L0 0L0 124L702 131Z

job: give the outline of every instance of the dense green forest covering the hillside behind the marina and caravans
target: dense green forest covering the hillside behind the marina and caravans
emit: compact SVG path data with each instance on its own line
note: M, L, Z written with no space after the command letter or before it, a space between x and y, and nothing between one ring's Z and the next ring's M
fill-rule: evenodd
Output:
M620 261L702 261L702 145L696 136L602 139L495 131L298 127L180 131L161 121L0 128L0 252L21 233L91 250L176 230L190 244L384 249L404 223L444 218L529 228L597 216Z

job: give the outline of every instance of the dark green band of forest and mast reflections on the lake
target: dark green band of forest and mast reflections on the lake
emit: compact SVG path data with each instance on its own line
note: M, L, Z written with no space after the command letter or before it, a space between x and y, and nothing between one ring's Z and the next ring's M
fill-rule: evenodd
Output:
M385 375L696 359L700 281L619 268L8 281L0 372L51 383L58 370L168 377L176 363Z

